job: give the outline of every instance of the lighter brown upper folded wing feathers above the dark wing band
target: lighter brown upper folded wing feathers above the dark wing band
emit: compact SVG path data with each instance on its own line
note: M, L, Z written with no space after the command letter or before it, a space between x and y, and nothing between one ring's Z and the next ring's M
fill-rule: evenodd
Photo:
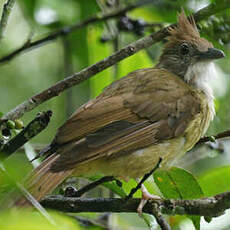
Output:
M119 120L136 122L139 117L130 109L124 108L121 97L103 98L93 100L80 108L79 113L72 116L62 127L59 128L55 142L58 144L72 140L79 140L84 135L93 133L103 126Z

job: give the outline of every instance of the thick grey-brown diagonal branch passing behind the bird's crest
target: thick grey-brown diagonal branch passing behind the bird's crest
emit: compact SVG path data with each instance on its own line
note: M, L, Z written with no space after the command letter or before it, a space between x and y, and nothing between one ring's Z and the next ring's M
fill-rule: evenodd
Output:
M217 13L221 10L230 8L230 4L227 1L221 2L221 4L210 4L207 7L201 9L197 13L194 14L194 18L196 21L199 21L203 18L211 16L214 13ZM175 26L173 24L171 26ZM31 111L38 105L42 104L43 102L58 96L64 90L69 89L87 79L94 76L95 74L107 69L108 67L114 65L115 63L137 53L138 51L147 48L153 45L156 42L161 41L168 35L168 28L166 27L157 33L153 33L149 36L143 37L126 47L122 48L121 50L115 52L111 56L93 64L78 73L73 74L65 78L62 81L57 82L55 85L51 86L50 88L42 91L41 93L34 95L33 97L29 98L28 100L24 101L22 104L18 105L16 108L8 112L2 119L16 119L20 118L24 115L24 113Z

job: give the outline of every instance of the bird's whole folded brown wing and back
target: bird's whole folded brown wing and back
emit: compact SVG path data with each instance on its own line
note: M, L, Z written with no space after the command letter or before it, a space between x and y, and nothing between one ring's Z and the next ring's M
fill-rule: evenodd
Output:
M129 74L82 106L58 131L54 171L177 137L200 112L200 101L166 70Z

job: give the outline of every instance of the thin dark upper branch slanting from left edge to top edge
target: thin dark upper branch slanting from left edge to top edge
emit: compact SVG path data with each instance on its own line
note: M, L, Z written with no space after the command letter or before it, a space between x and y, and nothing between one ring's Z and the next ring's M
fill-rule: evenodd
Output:
M130 4L122 9L110 12L110 13L105 13L105 14L97 14L91 18L88 18L82 22L76 23L74 25L70 25L70 26L65 26L57 31L54 31L46 36L43 36L40 39L36 39L35 41L31 42L31 41L27 41L25 44L23 44L21 47L19 47L18 49L14 50L13 52L7 54L6 56L3 56L0 58L0 63L4 63L6 61L10 61L11 59L13 59L14 57L16 57L17 55L19 55L22 52L27 52L29 50L32 50L36 47L40 47L41 45L45 45L48 42L54 41L55 39L57 39L58 37L63 37L66 36L78 29L81 29L89 24L93 24L93 23L97 23L97 22L103 22L106 21L108 19L112 19L112 18L116 18L120 15L125 14L128 11L134 10L140 6L143 6L145 4L149 4L152 3L151 0L143 0L143 1L138 1L136 3Z

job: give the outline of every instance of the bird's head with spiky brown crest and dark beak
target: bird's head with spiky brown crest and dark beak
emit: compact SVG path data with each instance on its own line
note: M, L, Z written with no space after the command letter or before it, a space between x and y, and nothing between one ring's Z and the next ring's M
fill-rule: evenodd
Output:
M187 83L203 77L203 72L212 67L213 60L224 57L223 51L200 37L194 18L187 19L184 11L178 15L177 26L168 31L170 36L158 67L175 73Z

